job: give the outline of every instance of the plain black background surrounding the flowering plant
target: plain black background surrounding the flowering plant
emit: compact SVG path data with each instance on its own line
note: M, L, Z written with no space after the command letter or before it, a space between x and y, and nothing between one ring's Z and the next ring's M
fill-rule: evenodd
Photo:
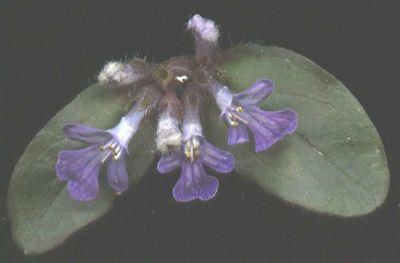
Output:
M398 9L378 1L99 2L0 4L0 262L400 262ZM219 177L210 202L179 204L171 197L176 178L154 173L64 246L25 257L11 241L4 200L28 142L106 61L190 52L183 29L196 13L221 26L223 47L286 47L345 83L386 148L385 204L362 218L329 218L265 197L236 176Z

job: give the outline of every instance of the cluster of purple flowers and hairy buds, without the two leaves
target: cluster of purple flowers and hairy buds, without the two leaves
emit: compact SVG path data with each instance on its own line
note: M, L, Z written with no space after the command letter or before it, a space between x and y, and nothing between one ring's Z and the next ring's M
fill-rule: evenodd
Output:
M174 198L177 201L213 198L219 183L216 177L207 174L204 166L218 173L229 173L234 169L235 159L207 142L203 133L200 113L207 93L214 97L221 119L228 126L229 145L248 142L250 130L255 151L261 152L295 131L294 111L265 111L258 106L272 93L271 80L258 80L237 94L217 81L215 57L220 34L213 21L195 15L188 21L187 30L195 38L194 57L174 57L160 65L109 62L100 72L98 80L102 86L130 87L140 99L114 128L101 130L78 123L64 127L68 138L89 144L83 149L61 151L58 156L57 176L68 181L73 199L90 201L97 197L102 164L106 165L108 183L116 192L128 188L125 159L129 142L143 118L153 111L158 117L155 141L161 154L157 170L169 173L181 169L173 188Z

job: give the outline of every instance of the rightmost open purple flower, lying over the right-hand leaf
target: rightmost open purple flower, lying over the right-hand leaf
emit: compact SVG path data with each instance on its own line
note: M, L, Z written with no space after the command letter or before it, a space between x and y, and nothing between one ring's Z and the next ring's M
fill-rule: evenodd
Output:
M296 130L296 112L290 109L264 111L257 106L272 90L273 83L267 79L256 81L238 94L231 93L220 84L212 85L211 91L221 109L221 116L229 126L229 145L248 142L247 129L250 129L254 135L256 152L265 151Z

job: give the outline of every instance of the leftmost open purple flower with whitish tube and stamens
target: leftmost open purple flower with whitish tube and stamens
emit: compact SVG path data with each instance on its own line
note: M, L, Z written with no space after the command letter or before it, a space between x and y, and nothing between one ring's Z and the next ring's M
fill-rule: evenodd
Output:
M77 201L91 201L99 192L99 172L107 165L108 184L117 192L128 188L125 156L128 143L136 132L144 113L128 119L123 117L113 129L101 130L73 123L64 127L65 135L90 144L79 150L65 150L58 155L56 172L59 179L68 181L68 191ZM136 117L136 118L135 118Z

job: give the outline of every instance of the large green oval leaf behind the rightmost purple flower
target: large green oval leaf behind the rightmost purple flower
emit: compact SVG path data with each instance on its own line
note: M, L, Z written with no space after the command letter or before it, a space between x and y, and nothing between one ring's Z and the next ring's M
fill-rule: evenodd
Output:
M292 108L297 131L270 150L229 147L236 171L292 204L336 216L360 216L385 200L389 171L379 135L362 106L334 76L292 51L242 45L223 53L223 79L239 92L261 78L275 90L261 105ZM226 148L227 129L209 118L207 137ZM219 132L221 131L221 132Z

